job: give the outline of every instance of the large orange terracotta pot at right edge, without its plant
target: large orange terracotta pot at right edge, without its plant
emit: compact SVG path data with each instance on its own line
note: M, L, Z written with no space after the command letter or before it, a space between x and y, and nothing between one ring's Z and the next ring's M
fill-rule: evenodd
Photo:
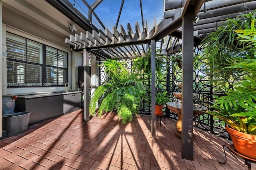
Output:
M252 159L256 159L256 136L248 133L243 133L231 129L226 126L226 130L230 134L235 150Z

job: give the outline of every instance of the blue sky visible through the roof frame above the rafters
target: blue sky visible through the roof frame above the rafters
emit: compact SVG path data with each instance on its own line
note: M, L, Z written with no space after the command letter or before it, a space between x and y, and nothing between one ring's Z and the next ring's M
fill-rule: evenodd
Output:
M74 3L74 0L69 0L70 3ZM86 0L88 4L92 4L94 0ZM94 10L98 18L110 31L112 31L112 26L116 25L118 18L120 6L122 0L103 0L100 5ZM79 4L79 6L78 6ZM88 8L84 5L82 0L75 0L75 7L78 9L86 18L88 18ZM81 7L81 8L80 8ZM83 8L83 9L82 9ZM142 0L143 8L143 19L147 20L148 29L153 29L154 18L156 18L156 25L161 21L164 16L163 11L163 0ZM93 24L97 23L96 18L93 19ZM124 6L122 8L122 13L120 20L118 22L127 31L127 23L130 23L133 31L135 32L135 22L138 21L140 26L140 31L142 31L142 19L140 13L140 0L124 0ZM97 23L98 24L98 23ZM98 24L100 27L100 24Z

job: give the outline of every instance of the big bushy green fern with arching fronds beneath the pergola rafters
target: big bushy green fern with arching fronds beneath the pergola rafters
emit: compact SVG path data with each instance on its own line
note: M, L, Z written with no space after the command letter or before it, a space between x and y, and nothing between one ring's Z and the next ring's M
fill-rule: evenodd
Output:
M145 96L145 86L118 61L107 60L102 66L105 68L107 80L92 94L90 114L96 114L96 106L99 102L98 116L101 116L103 111L117 110L118 118L122 119L122 123L132 121Z

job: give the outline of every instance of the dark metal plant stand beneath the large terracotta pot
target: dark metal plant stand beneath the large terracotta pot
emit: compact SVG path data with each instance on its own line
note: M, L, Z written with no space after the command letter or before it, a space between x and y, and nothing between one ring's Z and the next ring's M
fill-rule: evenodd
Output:
M256 164L256 159L248 158L248 157L246 157L246 156L244 156L244 155L242 155L242 154L236 152L235 147L234 147L233 144L230 144L230 145L228 145L228 146L223 145L223 149L224 149L224 147L227 147L228 150L229 150L230 152L232 152L234 155L238 156L239 158L244 159L245 164L247 165L248 170L251 170L251 169L252 169L251 163ZM227 162L227 156L226 156L226 153L225 153L225 149L224 149L224 154L225 154L225 162L219 162L220 164L225 164L225 163Z

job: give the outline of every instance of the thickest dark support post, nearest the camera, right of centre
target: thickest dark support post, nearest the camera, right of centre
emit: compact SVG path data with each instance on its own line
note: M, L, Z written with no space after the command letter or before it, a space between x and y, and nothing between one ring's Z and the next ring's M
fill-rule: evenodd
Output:
M182 158L193 160L193 21L194 6L182 20Z

